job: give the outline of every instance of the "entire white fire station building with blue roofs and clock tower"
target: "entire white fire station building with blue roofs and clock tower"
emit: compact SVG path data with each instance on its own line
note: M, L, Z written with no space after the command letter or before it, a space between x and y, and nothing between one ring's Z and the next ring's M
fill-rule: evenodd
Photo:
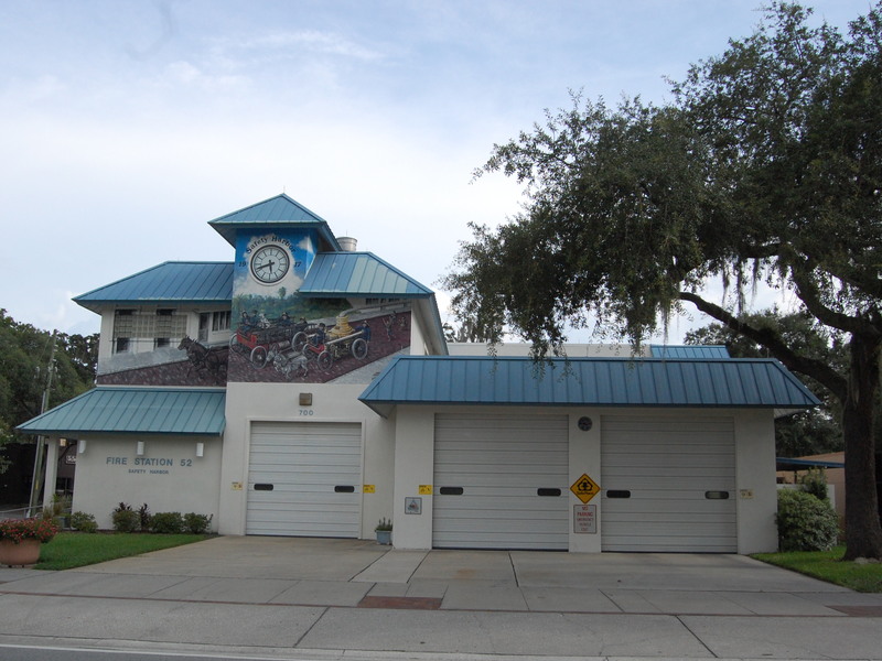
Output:
M235 261L75 299L101 315L98 386L19 427L50 437L51 467L76 443L74 509L101 527L125 501L222 534L370 538L391 518L402 549L775 549L774 419L818 403L777 361L488 357L286 195L209 225Z

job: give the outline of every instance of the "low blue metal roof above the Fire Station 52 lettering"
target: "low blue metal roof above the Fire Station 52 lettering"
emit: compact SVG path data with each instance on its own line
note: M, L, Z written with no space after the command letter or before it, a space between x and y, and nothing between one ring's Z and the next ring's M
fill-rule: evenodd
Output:
M224 431L223 390L94 388L20 424L26 434L200 434Z

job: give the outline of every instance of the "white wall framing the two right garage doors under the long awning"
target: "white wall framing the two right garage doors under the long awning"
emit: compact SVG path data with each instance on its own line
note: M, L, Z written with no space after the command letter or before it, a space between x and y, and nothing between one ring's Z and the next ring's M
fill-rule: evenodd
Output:
M420 494L420 486L431 486L434 475L434 414L435 412L456 413L499 412L493 407L398 407L395 433L395 528L392 542L398 549L430 549L432 545L432 497ZM506 407L506 412L537 413L531 407ZM601 435L603 415L622 415L627 412L635 418L641 415L657 419L664 415L680 418L693 413L696 416L730 416L734 419L735 474L738 511L739 553L775 551L777 531L775 528L775 442L774 420L771 410L663 410L663 409L555 409L542 408L542 414L564 414L570 420L570 485L582 474L587 474L603 489L601 473ZM578 421L588 416L592 427L583 432ZM569 488L569 485L567 485ZM567 492L570 511L571 552L595 553L601 550L603 534L602 497L595 496L589 505L596 507L596 532L577 533L573 523L573 507L582 502ZM422 514L406 514L405 498L422 498Z

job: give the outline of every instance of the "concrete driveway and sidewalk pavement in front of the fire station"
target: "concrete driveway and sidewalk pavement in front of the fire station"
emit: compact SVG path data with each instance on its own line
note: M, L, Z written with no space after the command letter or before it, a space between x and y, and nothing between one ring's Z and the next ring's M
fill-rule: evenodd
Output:
M0 644L279 659L882 659L882 595L738 555L216 538L67 572L0 568Z

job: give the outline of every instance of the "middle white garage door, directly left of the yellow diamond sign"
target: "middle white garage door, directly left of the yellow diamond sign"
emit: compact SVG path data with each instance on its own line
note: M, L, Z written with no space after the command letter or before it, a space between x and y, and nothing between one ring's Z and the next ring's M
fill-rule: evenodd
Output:
M567 550L566 416L437 415L432 544Z

